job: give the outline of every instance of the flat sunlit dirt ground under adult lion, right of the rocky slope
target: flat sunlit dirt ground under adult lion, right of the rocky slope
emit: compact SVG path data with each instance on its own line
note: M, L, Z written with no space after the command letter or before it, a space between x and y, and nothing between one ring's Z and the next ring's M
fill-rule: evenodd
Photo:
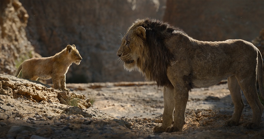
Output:
M94 107L100 111L128 121L131 129L145 134L163 134L153 132L153 127L161 125L162 122L163 88L157 88L152 82L67 84L67 86L81 92L87 98L95 99ZM237 138L239 134L246 135L245 138L255 138L254 134L260 134L256 138L264 138L264 113L260 129L248 130L242 126L252 118L252 110L244 95L242 97L245 108L240 125L225 127L225 120L231 118L234 110L227 82L224 80L212 87L194 88L189 92L183 133L224 131L231 133L217 134L217 138ZM242 136L240 137L243 138Z

